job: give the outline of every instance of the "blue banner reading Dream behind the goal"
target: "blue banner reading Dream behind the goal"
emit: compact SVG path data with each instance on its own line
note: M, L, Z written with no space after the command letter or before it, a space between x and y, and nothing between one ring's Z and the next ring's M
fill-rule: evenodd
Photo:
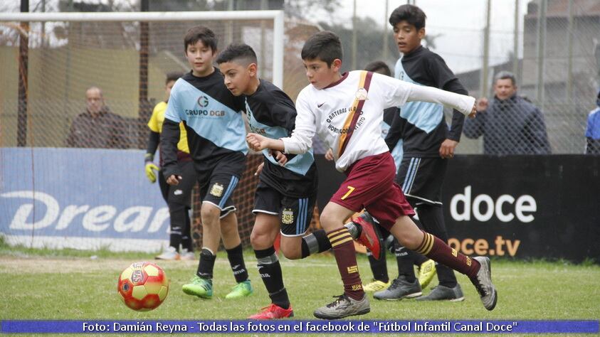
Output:
M1 148L0 235L34 247L159 250L169 210L143 158L141 150Z

